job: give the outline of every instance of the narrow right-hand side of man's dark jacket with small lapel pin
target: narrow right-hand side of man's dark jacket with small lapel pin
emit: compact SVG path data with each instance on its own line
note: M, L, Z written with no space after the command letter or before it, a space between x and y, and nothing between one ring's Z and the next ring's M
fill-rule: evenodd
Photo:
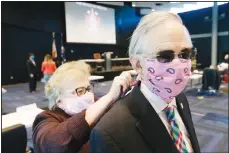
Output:
M182 121L189 133L189 139L192 144L193 151L195 153L200 152L198 140L196 137L195 129L193 126L190 109L188 106L188 101L183 93L176 97L177 110L182 118Z

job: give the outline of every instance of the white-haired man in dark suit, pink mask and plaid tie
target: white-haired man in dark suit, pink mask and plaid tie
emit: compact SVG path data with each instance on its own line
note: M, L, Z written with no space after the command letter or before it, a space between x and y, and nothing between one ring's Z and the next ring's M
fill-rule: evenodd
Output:
M178 15L152 12L141 19L129 46L139 81L92 130L91 153L200 152L182 93L192 47Z

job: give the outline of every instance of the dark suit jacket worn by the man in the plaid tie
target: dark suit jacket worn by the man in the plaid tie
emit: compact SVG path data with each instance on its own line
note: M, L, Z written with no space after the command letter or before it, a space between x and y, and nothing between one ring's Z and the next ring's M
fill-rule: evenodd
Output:
M192 148L199 153L188 101L183 93L176 97L176 103ZM163 122L141 93L140 82L92 130L90 150L91 153L178 153Z

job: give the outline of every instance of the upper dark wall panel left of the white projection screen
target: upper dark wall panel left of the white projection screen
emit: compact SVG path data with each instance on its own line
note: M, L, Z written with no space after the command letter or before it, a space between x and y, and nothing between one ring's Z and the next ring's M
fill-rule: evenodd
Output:
M64 31L64 2L2 2L2 22L30 29Z

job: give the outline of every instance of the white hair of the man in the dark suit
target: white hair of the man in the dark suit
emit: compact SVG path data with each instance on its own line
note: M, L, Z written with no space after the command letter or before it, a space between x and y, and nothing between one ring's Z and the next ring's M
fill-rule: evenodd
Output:
M143 37L153 28L163 24L167 20L174 20L183 24L181 18L174 13L169 12L152 12L144 16L134 30L129 45L129 57L140 55L143 52L145 40Z

